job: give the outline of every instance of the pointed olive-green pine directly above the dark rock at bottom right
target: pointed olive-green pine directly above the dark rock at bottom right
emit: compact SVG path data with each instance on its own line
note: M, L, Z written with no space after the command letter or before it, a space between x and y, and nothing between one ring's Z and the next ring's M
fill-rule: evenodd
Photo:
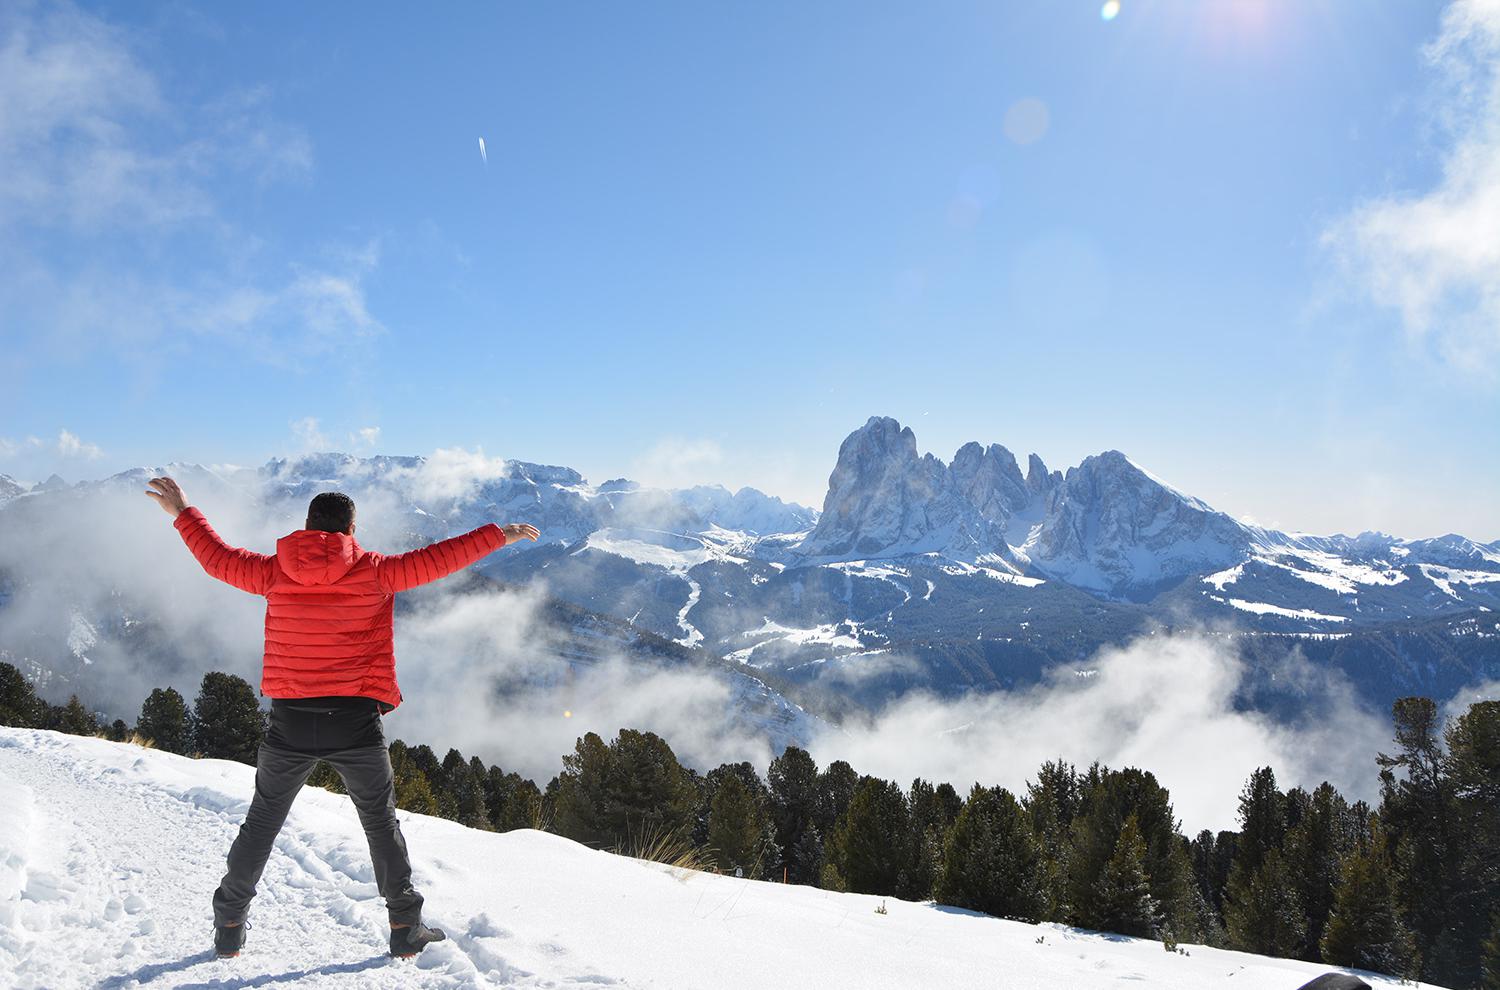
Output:
M1323 962L1404 976L1416 954L1396 906L1395 876L1380 824L1338 872L1334 909L1322 942Z

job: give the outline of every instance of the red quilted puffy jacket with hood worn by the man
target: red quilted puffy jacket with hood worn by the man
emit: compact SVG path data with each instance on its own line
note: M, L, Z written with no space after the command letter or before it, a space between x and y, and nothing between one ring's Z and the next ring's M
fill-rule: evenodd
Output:
M196 508L174 524L213 578L266 596L267 698L374 698L400 704L392 603L398 591L446 578L506 546L495 524L408 554L363 549L345 532L298 530L267 556L228 546Z

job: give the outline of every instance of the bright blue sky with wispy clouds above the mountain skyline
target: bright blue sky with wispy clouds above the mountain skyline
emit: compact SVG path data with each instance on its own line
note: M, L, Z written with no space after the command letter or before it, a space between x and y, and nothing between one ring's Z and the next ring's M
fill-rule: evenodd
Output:
M820 504L882 414L1500 537L1494 0L22 3L0 52L0 472Z

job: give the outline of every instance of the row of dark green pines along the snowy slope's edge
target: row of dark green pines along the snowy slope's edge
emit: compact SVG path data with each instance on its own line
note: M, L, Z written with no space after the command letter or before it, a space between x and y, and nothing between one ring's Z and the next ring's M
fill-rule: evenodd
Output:
M1266 766L1239 795L1239 828L1188 838L1172 798L1138 768L1052 760L1023 794L960 794L819 768L788 747L765 776L747 762L684 766L654 732L578 740L544 788L450 748L390 744L396 804L471 828L546 828L632 855L938 900L1062 924L1500 990L1500 702L1442 723L1425 698L1395 704L1380 800L1332 784L1282 790ZM40 700L0 663L0 724L148 742L254 764L266 714L230 674L192 706L156 688L134 729L70 698ZM340 789L320 764L310 783Z

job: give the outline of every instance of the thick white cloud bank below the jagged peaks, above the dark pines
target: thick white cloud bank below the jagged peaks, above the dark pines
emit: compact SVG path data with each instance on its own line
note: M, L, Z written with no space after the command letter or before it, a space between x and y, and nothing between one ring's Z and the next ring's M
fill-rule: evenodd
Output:
M1234 828L1239 788L1272 766L1282 788L1330 780L1346 795L1372 798L1376 753L1386 723L1347 682L1293 657L1276 670L1317 700L1305 724L1236 706L1246 668L1233 645L1210 634L1143 636L1092 657L1088 676L1064 672L1034 688L958 700L908 694L879 716L849 722L812 746L819 764L846 759L861 772L909 783L974 782L1024 792L1048 759L1152 771L1172 790L1188 834Z

